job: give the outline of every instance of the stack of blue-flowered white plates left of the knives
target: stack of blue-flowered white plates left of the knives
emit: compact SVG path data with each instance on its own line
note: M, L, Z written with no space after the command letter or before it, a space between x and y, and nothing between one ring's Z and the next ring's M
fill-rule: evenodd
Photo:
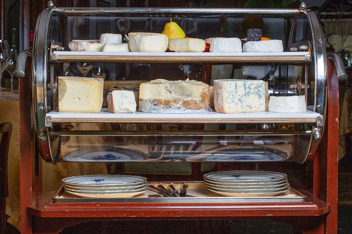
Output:
M62 179L66 192L82 198L132 198L149 189L147 178L135 175L81 175Z

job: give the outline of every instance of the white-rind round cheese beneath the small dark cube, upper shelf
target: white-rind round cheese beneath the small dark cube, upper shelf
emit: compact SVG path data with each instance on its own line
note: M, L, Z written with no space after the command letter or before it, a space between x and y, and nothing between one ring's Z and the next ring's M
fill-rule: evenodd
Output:
M247 41L243 52L283 52L282 40Z

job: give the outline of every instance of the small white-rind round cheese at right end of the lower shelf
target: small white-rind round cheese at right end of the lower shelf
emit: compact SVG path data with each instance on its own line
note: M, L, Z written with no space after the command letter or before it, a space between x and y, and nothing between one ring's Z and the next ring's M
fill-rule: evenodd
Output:
M300 113L306 112L307 105L304 96L270 96L270 112Z

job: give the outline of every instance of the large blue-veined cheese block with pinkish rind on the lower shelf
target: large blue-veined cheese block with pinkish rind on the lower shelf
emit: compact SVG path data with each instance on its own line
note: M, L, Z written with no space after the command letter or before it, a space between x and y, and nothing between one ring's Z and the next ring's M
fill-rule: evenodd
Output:
M265 111L266 85L262 80L214 80L214 107L220 113Z

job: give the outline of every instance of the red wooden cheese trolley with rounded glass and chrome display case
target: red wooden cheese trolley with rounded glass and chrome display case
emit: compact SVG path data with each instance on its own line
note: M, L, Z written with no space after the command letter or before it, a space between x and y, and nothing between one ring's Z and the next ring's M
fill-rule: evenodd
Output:
M186 38L160 34L170 18ZM260 39L259 29L245 30L249 19L262 22ZM16 76L23 233L93 220L254 217L301 233L337 232L338 80L346 74L304 4L57 8L50 1ZM43 193L42 163L64 162L103 163L108 175L64 178Z

